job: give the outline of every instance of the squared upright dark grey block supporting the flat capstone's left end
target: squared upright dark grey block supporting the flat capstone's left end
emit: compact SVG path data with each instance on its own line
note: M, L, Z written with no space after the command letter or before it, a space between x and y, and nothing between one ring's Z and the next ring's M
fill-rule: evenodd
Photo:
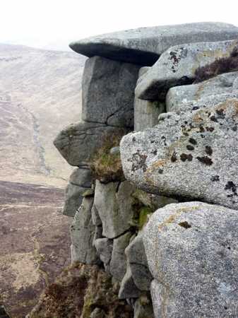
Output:
M82 119L133 129L133 100L140 66L91 57L83 72Z

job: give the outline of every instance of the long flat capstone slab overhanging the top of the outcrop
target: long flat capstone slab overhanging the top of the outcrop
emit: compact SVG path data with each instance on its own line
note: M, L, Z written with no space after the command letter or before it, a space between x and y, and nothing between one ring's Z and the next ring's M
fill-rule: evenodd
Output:
M75 52L134 64L153 65L166 49L192 42L232 40L238 28L227 23L187 23L125 30L72 42Z

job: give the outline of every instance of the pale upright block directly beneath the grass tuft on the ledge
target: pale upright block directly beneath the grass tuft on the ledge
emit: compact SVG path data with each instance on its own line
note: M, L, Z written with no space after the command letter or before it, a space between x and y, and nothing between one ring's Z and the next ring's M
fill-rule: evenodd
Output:
M102 220L105 237L118 237L131 228L133 191L135 188L128 181L108 184L96 181L94 204Z

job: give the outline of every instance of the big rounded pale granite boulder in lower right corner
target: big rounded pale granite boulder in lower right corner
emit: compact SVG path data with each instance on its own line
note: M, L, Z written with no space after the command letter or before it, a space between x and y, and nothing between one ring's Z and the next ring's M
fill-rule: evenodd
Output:
M238 213L187 202L157 210L143 242L155 318L237 317Z

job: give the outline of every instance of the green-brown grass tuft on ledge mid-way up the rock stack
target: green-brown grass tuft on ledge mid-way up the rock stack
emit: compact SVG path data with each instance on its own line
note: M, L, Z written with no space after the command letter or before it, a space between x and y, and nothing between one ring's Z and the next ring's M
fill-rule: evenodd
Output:
M90 169L95 179L102 183L123 181L125 179L119 153L110 153L110 149L119 146L124 131L117 134L105 135L102 147L99 148L90 160Z

